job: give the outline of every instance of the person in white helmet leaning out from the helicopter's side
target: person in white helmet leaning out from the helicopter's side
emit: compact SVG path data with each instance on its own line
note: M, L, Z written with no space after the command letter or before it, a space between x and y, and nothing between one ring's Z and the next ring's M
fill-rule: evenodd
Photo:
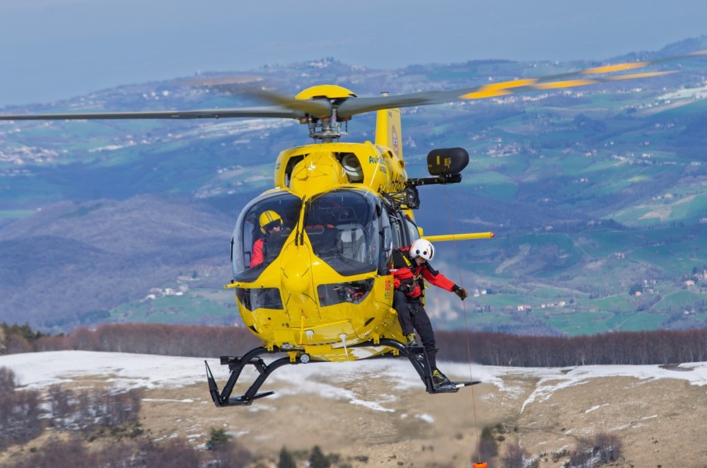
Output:
M435 256L435 247L425 239L412 242L409 247L395 250L392 255L393 308L400 320L402 334L407 338L407 345L418 346L414 331L417 331L422 345L427 351L427 358L432 370L432 380L436 386L451 385L446 375L437 368L435 333L430 317L421 302L424 279L435 286L455 293L461 300L467 297L467 291L457 286L428 263Z

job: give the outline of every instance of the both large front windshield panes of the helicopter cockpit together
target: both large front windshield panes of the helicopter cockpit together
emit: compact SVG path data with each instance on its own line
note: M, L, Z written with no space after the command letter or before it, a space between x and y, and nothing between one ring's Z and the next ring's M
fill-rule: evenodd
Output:
M302 209L303 226L298 226ZM262 232L259 218L265 212L281 217L281 230ZM307 244L312 262L318 259L341 276L387 274L398 232L380 197L366 190L337 189L304 204L288 190L271 192L252 200L240 213L231 241L233 276L239 282L255 281L290 243ZM267 238L264 262L251 267L254 245L262 238Z

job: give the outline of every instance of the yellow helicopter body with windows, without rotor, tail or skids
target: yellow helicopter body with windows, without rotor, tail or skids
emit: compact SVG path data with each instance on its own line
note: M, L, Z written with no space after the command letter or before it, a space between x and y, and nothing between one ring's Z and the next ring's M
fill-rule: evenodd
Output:
M383 194L404 189L404 161L370 142L324 143L282 151L276 188L250 202L233 235L233 283L243 322L269 349L320 361L390 351L356 347L402 339L392 308L392 248L419 238L412 213ZM283 229L262 233L258 217L275 211ZM252 245L267 255L252 266Z

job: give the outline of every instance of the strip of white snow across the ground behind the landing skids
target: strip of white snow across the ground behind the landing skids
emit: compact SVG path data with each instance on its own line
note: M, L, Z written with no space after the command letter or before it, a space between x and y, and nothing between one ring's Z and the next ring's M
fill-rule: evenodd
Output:
M228 368L216 359L208 359L214 376L221 386L228 378ZM21 387L42 389L49 385L72 382L77 379L96 379L114 387L130 389L143 387L148 390L176 388L203 383L206 385L204 359L153 356L130 353L100 353L93 351L52 351L0 356L0 367L11 368ZM632 377L639 380L677 379L691 385L707 385L707 363L685 363L670 368L658 365L586 365L573 368L513 368L484 365L440 363L440 368L452 380L481 380L495 385L503 392L514 392L504 385L504 378L526 376L539 378L534 392L523 406L548 399L557 390L573 385L583 385L592 378ZM255 370L246 368L241 378L257 376ZM321 378L327 375L326 382ZM276 370L266 386L276 384L279 395L316 393L325 398L349 399L353 404L370 406L361 402L346 382L354 382L361 375L385 375L396 389L419 387L421 381L405 359L358 361L358 363L309 363L285 366ZM239 384L240 385L240 384ZM349 386L350 387L350 386ZM376 409L385 411L382 407Z

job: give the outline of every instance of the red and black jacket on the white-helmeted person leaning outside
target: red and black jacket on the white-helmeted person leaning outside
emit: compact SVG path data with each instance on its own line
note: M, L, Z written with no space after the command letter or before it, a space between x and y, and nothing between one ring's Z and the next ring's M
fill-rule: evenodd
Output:
M415 260L410 258L410 247L395 250L392 262L390 271L393 274L393 286L409 298L419 298L422 295L423 278L447 291L453 291L456 286L454 281L433 269L428 262L418 266Z

